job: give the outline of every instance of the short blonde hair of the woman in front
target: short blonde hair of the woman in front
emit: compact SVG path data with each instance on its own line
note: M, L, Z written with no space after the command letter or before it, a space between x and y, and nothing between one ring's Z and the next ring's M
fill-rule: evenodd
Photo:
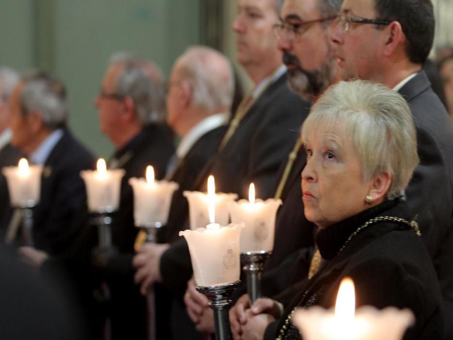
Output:
M386 171L388 199L404 195L419 163L412 115L404 98L385 85L362 80L329 87L302 126L302 140L317 126L341 123L362 161L363 180Z

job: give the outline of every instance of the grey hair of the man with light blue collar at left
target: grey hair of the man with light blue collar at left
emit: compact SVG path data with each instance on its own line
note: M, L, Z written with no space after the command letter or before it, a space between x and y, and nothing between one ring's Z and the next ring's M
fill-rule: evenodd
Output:
M39 112L51 130L65 126L69 109L63 83L44 72L27 75L21 81L24 83L19 97L22 114Z

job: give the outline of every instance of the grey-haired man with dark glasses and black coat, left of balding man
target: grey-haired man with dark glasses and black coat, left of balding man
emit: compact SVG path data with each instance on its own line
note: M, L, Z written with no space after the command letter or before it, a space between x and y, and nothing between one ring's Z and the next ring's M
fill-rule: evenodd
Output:
M112 339L146 338L146 300L134 284L132 259L138 228L134 226L134 195L128 181L131 177L143 177L148 165L154 167L156 178L165 175L174 147L172 132L161 122L164 101L162 78L151 62L129 54L115 54L111 58L95 105L101 131L116 149L109 168L125 170L119 208L111 227L113 246L97 248L97 231L85 208L71 225L78 236L64 254L47 258L48 255L33 249L21 252L35 266L43 265L45 272L58 267L67 270L79 292L94 339L99 339L102 329L108 327ZM99 294L101 282L108 283L108 299ZM104 323L107 318L110 323Z

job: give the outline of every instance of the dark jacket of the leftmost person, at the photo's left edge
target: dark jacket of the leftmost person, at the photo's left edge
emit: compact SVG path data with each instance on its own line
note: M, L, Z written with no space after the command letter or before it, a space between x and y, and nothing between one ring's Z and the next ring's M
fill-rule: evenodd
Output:
M3 167L17 166L21 157L24 157L24 154L11 144L6 144L0 150L0 242L5 239L5 232L12 212L9 202L8 184L1 169Z

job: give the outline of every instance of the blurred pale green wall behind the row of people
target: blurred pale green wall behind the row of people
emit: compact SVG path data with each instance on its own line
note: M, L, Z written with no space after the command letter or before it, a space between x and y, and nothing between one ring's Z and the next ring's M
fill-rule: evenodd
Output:
M433 3L434 58L453 46L453 0ZM74 134L107 157L113 148L99 131L93 101L109 56L136 52L166 77L176 57L194 44L217 48L234 61L235 13L235 0L1 0L0 64L60 78L68 88Z

